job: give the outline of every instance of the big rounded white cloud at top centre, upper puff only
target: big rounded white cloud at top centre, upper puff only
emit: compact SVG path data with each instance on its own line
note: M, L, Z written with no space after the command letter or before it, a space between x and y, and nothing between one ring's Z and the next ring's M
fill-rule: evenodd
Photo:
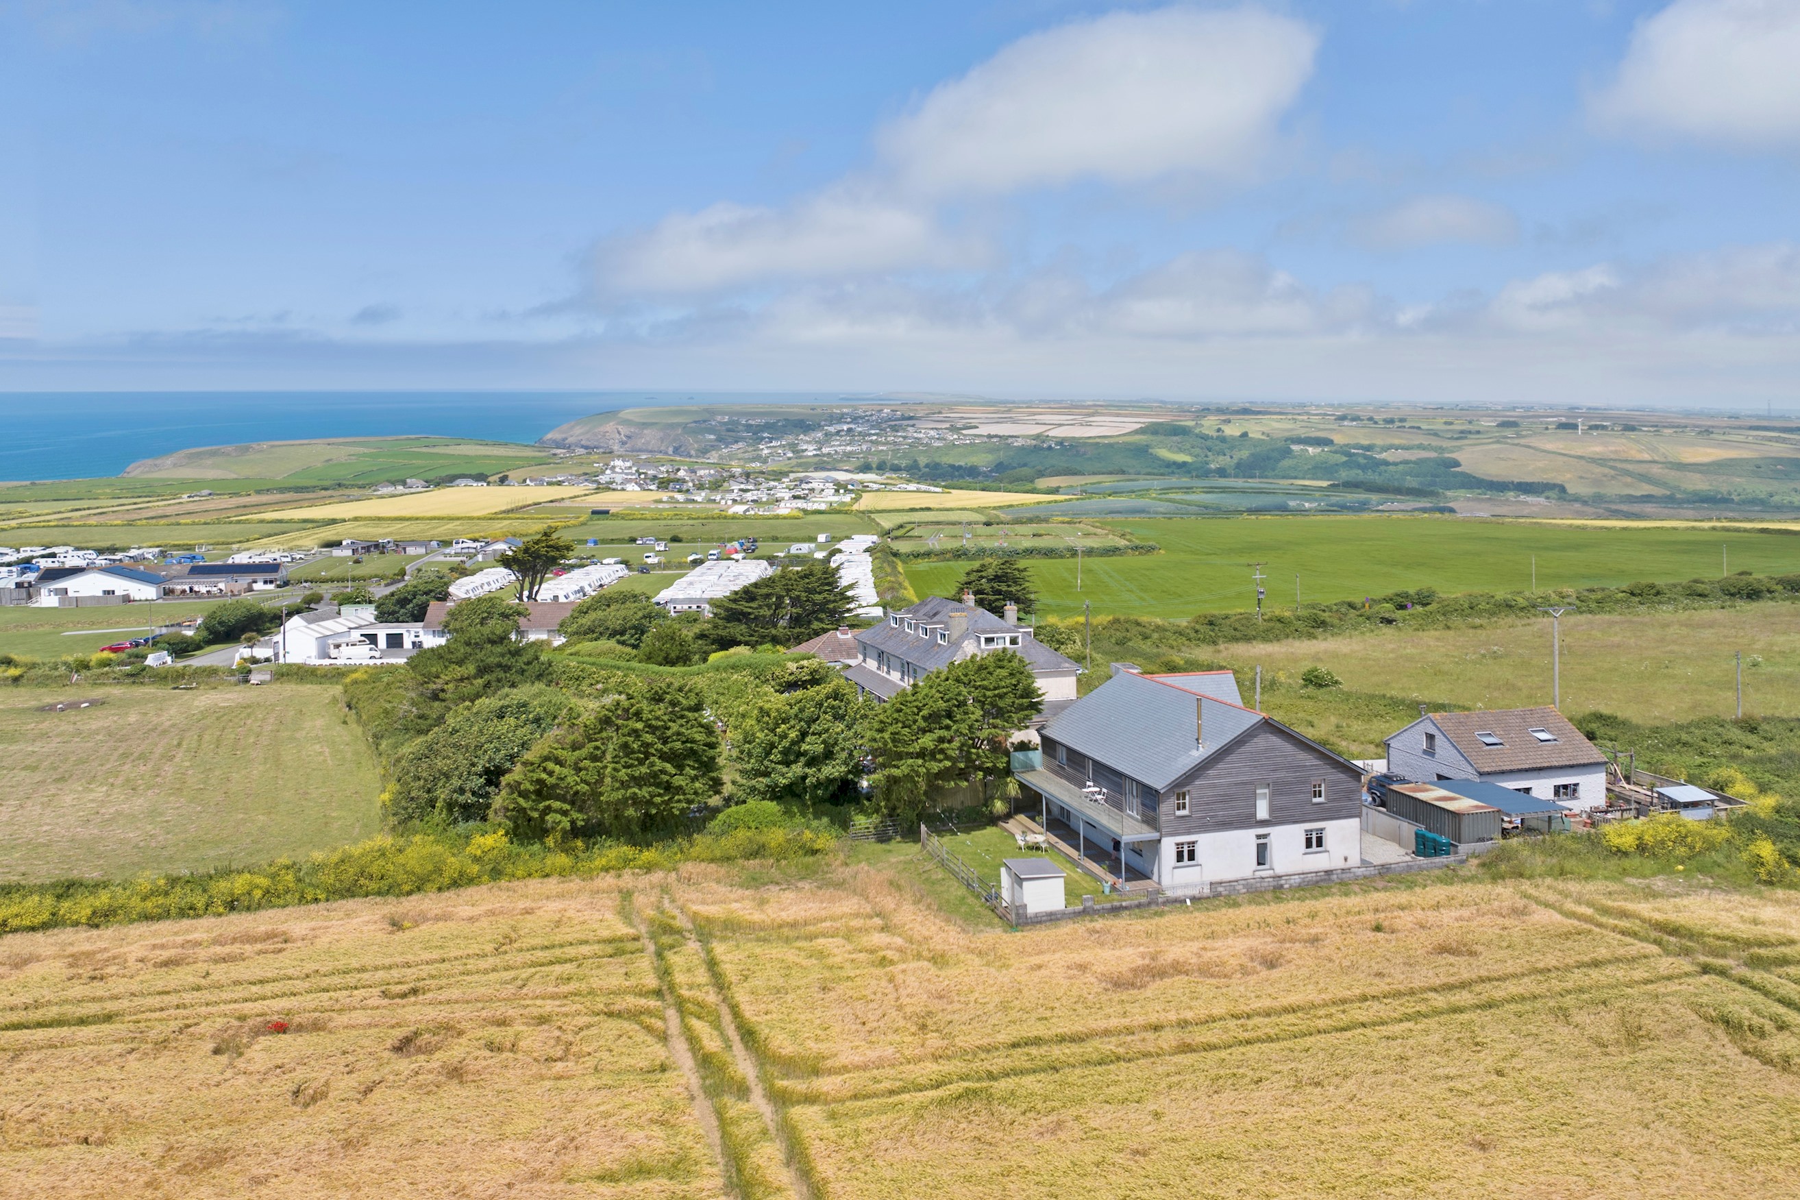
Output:
M1253 7L1114 13L1013 41L877 140L900 187L923 196L1244 176L1318 45L1309 25Z

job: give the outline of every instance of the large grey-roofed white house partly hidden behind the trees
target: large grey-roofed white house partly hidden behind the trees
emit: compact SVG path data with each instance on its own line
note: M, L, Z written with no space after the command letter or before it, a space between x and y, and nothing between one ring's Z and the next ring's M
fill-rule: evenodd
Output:
M880 624L860 630L857 646L862 651L860 662L844 675L857 691L877 700L891 700L902 687L952 662L1010 649L1026 660L1037 689L1044 693L1040 720L1075 703L1075 676L1082 673L1073 658L1064 658L1037 640L1031 626L1019 624L1017 608L1008 604L1006 615L995 617L970 596L961 601L941 596L922 599L889 613Z

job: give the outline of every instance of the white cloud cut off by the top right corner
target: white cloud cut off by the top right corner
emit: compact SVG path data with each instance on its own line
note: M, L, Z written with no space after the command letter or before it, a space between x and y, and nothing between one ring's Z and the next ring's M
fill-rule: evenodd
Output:
M1638 23L1591 113L1615 131L1800 144L1800 0L1676 0Z

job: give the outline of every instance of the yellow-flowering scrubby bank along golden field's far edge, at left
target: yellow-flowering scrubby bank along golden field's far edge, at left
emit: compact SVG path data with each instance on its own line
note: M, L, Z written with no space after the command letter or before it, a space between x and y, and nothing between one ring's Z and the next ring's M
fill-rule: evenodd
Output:
M650 846L569 842L554 849L515 842L504 829L491 828L383 835L304 862L283 858L211 874L4 885L0 934L223 916L362 896L419 896L504 880L668 871L682 862L792 860L823 855L833 844L833 833L794 824L736 828Z

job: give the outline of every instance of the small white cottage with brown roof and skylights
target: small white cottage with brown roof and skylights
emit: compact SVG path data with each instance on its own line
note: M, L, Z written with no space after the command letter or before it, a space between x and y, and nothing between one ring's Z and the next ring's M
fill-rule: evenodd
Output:
M1498 783L1564 808L1606 804L1606 756L1550 707L1424 714L1388 738L1388 772Z

